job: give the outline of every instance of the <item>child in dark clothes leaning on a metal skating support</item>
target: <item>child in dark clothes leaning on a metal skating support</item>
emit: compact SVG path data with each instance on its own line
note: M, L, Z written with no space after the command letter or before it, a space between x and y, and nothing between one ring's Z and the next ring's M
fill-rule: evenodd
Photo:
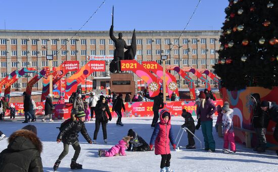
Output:
M188 128L193 134L195 134L195 123L194 119L192 118L192 114L190 112L187 112L186 109L182 109L181 117L184 118L184 124L181 126L181 128ZM188 145L187 149L196 149L195 147L195 141L194 141L194 135L188 132Z

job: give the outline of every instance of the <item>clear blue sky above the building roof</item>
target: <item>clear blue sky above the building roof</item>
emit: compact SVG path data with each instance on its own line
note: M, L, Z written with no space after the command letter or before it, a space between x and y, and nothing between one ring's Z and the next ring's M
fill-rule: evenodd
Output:
M104 0L1 2L0 29L78 30ZM106 0L82 30L183 30L199 0ZM220 30L227 0L202 0L187 30ZM5 7L5 8L4 8Z

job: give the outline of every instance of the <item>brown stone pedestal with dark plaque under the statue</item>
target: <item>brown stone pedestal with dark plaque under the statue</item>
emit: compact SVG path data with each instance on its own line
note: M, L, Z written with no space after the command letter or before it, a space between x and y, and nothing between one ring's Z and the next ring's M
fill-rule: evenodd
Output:
M131 93L132 95L135 94L135 81L133 81L133 75L130 73L114 73L110 75L111 83L110 89L111 91L118 93L122 93L123 97L124 94Z

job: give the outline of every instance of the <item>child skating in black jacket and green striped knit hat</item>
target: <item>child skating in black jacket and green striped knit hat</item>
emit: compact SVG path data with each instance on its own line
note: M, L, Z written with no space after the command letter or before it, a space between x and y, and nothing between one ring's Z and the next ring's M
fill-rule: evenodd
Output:
M75 150L73 158L71 159L70 168L71 169L81 169L82 165L79 163L76 163L76 160L80 153L80 145L78 141L78 133L81 132L83 137L86 139L86 141L91 144L91 138L87 133L86 127L85 127L85 112L79 111L75 114L75 116L72 116L72 119L65 124L65 126L60 128L60 133L57 137L57 143L60 143L61 141L64 144L64 150L58 157L57 161L55 162L53 169L57 170L59 167L59 164L61 163L61 160L68 154L69 152L69 145L72 145L73 149Z

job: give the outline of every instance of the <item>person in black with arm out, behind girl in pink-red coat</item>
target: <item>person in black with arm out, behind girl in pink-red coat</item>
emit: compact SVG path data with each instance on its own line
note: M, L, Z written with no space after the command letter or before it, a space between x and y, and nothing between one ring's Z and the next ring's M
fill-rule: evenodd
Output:
M159 113L158 110L164 107L164 103L163 103L163 93L159 93L157 96L155 97L149 97L147 95L145 95L145 97L154 100L154 105L153 105L153 111L154 111L154 118L153 118L153 122L151 127L154 128L158 119L159 119Z

